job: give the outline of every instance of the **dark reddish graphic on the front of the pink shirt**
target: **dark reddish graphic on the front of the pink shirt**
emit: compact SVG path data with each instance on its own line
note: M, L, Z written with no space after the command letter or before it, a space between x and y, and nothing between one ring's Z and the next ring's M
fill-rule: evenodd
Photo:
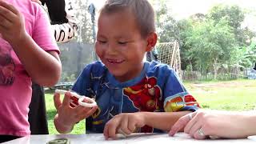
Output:
M10 86L14 83L15 64L11 58L11 46L0 38L0 86Z

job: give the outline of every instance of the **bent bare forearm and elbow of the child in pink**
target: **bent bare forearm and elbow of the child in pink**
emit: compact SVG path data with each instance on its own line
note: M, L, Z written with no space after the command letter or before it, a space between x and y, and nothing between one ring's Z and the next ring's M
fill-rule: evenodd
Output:
M58 54L54 57L42 50L28 34L10 43L34 82L42 86L54 86L58 82L62 69Z

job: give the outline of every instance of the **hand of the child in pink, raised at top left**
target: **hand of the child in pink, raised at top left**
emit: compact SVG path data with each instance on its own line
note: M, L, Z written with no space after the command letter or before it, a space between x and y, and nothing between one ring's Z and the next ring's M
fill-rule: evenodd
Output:
M22 42L26 36L24 18L12 5L0 0L0 34L7 42Z

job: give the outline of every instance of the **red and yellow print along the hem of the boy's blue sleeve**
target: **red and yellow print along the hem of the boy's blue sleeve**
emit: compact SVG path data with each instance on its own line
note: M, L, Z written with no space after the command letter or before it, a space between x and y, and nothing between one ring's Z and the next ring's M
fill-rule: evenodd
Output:
M164 109L168 112L176 112L184 108L185 106L199 106L194 97L188 93L176 94L171 98L166 98Z

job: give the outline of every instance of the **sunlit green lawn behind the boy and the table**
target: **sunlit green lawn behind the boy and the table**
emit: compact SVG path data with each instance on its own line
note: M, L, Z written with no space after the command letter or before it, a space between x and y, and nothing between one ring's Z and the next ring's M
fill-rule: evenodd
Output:
M235 80L226 82L184 82L202 108L214 110L254 110L256 81ZM46 109L50 134L58 134L53 119L56 114L53 94L46 94ZM85 122L79 122L72 134L83 134Z

